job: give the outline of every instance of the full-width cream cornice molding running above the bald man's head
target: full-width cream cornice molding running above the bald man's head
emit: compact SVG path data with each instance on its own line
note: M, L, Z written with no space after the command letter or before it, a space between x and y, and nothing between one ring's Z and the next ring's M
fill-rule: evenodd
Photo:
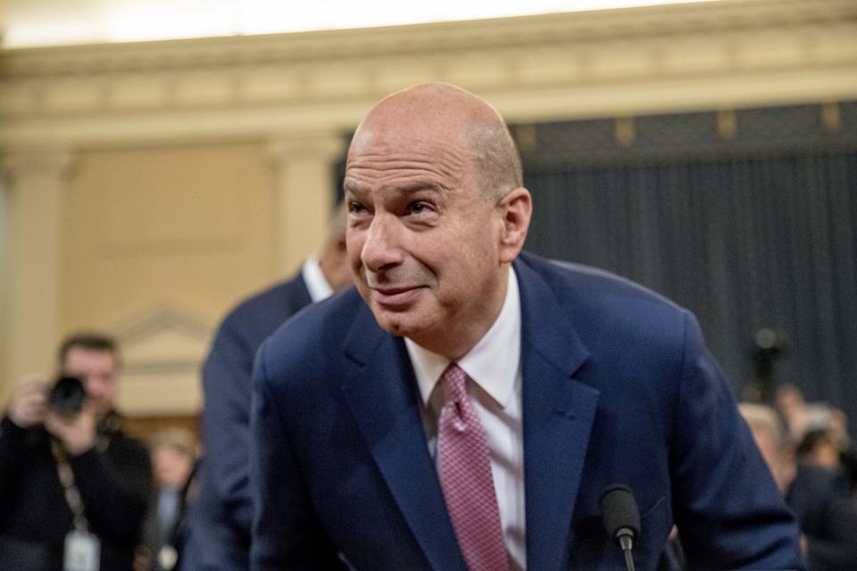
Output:
M0 54L0 148L354 128L428 80L512 122L857 96L852 0L738 0Z

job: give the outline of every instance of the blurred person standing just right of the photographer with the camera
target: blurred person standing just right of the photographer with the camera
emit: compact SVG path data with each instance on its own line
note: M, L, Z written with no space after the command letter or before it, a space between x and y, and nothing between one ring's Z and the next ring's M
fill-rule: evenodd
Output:
M181 568L187 541L187 514L196 501L197 445L184 428L167 428L151 441L157 491L146 521L145 560L139 569L172 571Z

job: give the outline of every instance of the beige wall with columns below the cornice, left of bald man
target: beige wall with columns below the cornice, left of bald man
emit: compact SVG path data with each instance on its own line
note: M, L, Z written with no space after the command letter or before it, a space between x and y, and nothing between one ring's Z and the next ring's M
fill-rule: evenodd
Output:
M51 377L62 336L87 329L121 342L122 410L195 413L224 313L320 245L341 151L277 137L7 156L0 398Z

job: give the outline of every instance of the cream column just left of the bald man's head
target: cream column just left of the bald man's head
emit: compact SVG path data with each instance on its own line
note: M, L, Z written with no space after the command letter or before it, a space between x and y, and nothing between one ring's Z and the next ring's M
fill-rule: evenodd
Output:
M275 170L279 273L295 271L324 241L333 165L345 149L337 135L279 137L268 151Z

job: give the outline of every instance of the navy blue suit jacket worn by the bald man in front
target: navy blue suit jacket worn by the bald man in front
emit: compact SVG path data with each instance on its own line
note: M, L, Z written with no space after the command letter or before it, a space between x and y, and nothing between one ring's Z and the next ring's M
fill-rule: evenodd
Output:
M530 571L624 568L599 492L628 484L638 569L675 522L691 568L801 567L786 509L693 316L604 272L521 255ZM463 570L412 366L354 289L262 344L251 568Z

